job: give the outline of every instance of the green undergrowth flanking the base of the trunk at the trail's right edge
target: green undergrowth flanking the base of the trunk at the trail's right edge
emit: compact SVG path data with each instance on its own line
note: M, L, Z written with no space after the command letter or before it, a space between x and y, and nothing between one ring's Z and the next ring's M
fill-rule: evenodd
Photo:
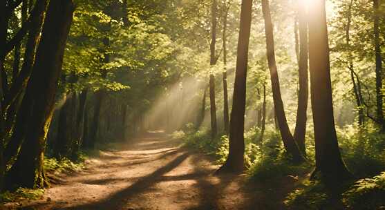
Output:
M308 170L310 164L292 164L285 153L281 135L272 127L267 127L263 140L259 128L251 128L245 133L245 166L252 179L272 179L285 175L298 175ZM216 164L223 164L229 151L227 135L218 135L212 140L208 131L176 131L173 138L182 139L185 146L199 149L213 155Z

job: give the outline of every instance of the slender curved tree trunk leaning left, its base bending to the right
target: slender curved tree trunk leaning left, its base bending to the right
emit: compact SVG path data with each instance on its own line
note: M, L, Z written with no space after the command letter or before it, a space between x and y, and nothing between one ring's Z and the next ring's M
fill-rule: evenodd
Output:
M274 100L274 108L276 113L276 121L278 122L279 131L281 132L283 144L286 151L294 161L303 161L303 156L301 151L294 141L292 133L290 133L290 128L288 121L286 120L285 110L283 107L282 97L281 97L281 88L279 85L278 72L276 70L276 61L274 53L274 34L272 26L272 18L270 15L270 6L268 0L262 0L262 10L263 17L265 19L265 34L266 34L266 46L267 46L267 61L270 68L270 79L272 81L272 92Z

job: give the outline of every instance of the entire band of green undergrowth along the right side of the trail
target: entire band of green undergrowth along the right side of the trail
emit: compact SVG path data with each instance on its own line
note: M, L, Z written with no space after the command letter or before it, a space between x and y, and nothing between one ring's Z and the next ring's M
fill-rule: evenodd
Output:
M259 128L245 132L245 165L251 180L269 180L287 175L299 179L296 189L288 193L288 209L385 209L385 134L375 126L337 128L341 155L356 180L330 191L321 182L309 181L306 175L314 169L314 134L308 128L306 153L308 161L293 164L285 153L281 135L268 126L262 141ZM212 140L209 131L177 131L171 135L192 147L214 156L223 164L228 155L229 140L218 135Z

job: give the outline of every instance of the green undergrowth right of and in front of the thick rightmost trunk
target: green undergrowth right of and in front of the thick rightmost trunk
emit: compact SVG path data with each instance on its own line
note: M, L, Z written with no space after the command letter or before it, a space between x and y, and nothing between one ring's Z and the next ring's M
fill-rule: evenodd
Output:
M357 178L337 195L321 182L303 182L285 200L288 209L385 209L385 135L375 126L337 128L339 147Z

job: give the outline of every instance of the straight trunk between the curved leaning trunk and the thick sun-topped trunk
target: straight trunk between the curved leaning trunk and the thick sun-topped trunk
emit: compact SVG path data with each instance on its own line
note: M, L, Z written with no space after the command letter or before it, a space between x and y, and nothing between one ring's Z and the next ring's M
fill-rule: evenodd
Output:
M308 23L306 22L306 7L299 4L299 93L298 93L298 108L297 121L294 130L294 140L303 155L306 154L305 135L306 121L308 120L308 98L309 98L309 83L308 83Z

